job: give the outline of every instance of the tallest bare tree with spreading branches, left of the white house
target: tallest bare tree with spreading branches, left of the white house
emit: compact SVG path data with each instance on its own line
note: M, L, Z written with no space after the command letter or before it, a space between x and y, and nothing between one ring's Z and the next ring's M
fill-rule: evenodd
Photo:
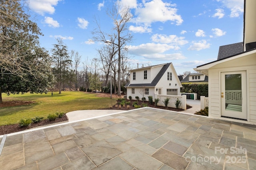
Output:
M128 6L122 6L120 1L117 0L112 9L107 11L107 15L114 22L114 31L112 33L105 33L102 31L100 23L95 19L98 28L92 32L94 35L92 39L94 41L113 44L118 48L118 96L121 96L121 57L122 51L127 50L126 44L132 41L133 38L127 28L132 14Z

